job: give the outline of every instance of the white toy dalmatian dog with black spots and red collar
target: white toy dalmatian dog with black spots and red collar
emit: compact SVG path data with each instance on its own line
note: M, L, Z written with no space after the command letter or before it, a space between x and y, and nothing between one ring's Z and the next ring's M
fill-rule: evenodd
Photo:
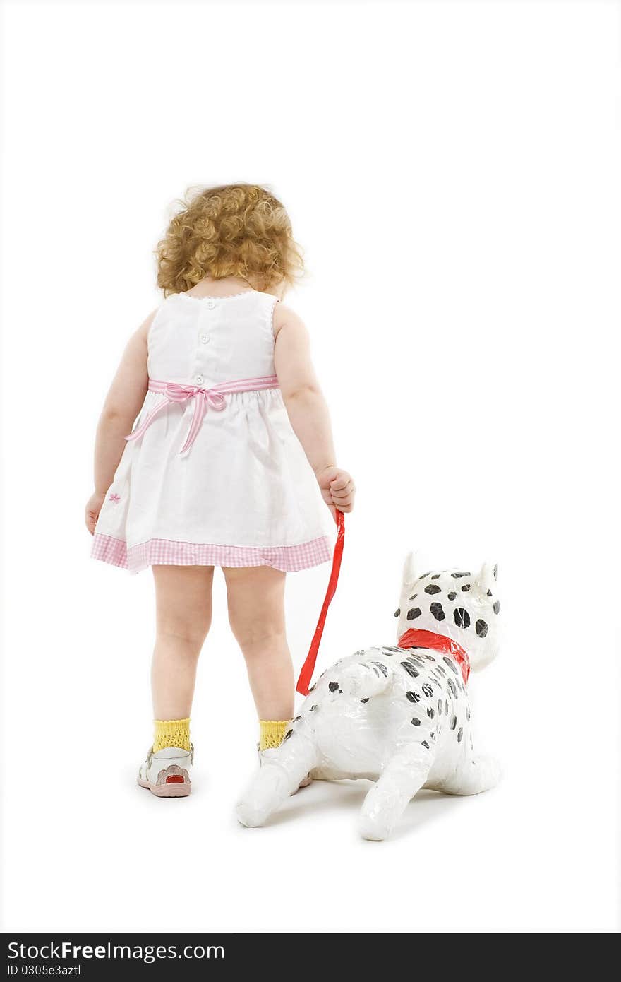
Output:
M368 778L365 839L386 839L421 788L478 794L500 777L473 748L467 682L497 654L496 568L416 576L405 564L397 647L365 648L336 662L310 690L285 739L237 806L260 826L310 772L314 779Z

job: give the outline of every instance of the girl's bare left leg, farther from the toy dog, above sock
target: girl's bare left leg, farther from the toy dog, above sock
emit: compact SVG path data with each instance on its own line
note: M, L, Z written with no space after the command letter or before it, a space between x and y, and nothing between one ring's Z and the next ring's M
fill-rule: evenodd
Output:
M198 656L211 625L213 566L154 566L157 635L151 666L153 716L190 715Z

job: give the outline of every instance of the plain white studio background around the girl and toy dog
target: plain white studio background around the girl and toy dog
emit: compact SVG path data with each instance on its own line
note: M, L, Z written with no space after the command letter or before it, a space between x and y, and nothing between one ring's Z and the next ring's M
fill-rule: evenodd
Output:
M615 930L617 5L3 21L5 930ZM409 547L499 566L502 657L472 690L504 783L419 795L384 845L357 836L364 784L235 824L256 731L221 576L194 791L133 784L151 576L88 558L93 432L171 203L234 180L306 248L289 302L359 487L323 666L391 641ZM297 666L327 577L290 577Z

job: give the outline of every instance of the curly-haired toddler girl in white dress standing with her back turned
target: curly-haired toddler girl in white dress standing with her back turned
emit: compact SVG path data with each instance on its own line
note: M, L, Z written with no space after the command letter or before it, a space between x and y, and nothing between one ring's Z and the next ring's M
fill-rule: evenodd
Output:
M190 791L214 567L259 748L278 746L294 690L285 574L331 558L325 506L350 512L354 487L336 466L306 330L282 302L302 262L281 202L255 185L195 193L157 258L165 300L130 338L108 393L85 518L95 559L153 570L155 737L138 783L177 797Z

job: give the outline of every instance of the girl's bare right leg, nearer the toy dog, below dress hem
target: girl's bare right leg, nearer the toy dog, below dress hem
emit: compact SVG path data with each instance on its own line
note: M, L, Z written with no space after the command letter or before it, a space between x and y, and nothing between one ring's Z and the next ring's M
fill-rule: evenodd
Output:
M285 632L285 573L258 566L224 570L229 620L246 662L260 720L290 720L293 666Z

